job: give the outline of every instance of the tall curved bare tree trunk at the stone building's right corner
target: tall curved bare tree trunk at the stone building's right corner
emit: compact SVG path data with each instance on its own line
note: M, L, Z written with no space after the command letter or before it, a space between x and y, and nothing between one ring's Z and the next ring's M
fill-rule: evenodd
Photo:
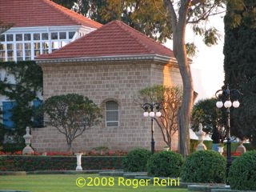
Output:
M178 111L178 151L184 157L190 154L190 113L194 101L193 79L185 46L187 3L181 3L178 22L173 25L174 56L178 61L183 82L182 106Z

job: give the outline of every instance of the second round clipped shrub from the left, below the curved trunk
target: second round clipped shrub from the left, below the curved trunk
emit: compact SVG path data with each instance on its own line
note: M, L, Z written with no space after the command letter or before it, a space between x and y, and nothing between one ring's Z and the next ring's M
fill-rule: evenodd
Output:
M181 154L173 151L161 151L151 155L147 173L156 177L179 177L183 165Z

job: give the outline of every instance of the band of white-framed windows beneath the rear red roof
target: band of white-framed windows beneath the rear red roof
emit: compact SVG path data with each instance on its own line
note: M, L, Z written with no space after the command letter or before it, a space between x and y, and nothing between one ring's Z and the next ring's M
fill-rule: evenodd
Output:
M0 35L0 62L34 60L90 33L81 26L13 27Z

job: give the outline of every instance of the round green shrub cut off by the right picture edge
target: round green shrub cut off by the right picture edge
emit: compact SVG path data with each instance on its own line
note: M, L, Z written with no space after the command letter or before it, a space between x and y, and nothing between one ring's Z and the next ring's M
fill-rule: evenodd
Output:
M256 150L234 159L228 181L232 190L256 190Z

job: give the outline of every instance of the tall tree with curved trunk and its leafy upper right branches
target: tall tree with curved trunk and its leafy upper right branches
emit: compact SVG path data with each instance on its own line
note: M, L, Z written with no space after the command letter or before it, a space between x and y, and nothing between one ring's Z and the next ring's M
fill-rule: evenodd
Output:
M194 86L187 59L185 34L186 26L193 25L195 34L202 35L207 46L217 43L218 31L214 27L202 27L210 15L218 14L223 7L222 0L163 0L169 14L166 17L171 22L173 31L173 51L178 61L183 82L182 106L178 112L179 152L186 156L190 153L190 113L194 103Z

